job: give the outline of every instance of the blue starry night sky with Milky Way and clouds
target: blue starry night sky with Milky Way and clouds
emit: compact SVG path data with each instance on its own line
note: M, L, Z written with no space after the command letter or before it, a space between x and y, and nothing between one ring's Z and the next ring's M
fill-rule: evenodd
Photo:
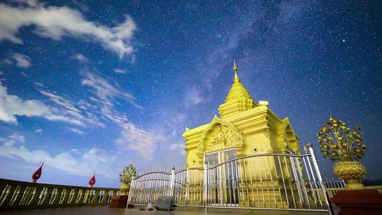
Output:
M381 1L11 0L0 3L0 178L119 187L186 162L185 127L210 122L233 60L255 102L301 149L335 115L360 125L382 179ZM331 161L320 163L331 177Z

